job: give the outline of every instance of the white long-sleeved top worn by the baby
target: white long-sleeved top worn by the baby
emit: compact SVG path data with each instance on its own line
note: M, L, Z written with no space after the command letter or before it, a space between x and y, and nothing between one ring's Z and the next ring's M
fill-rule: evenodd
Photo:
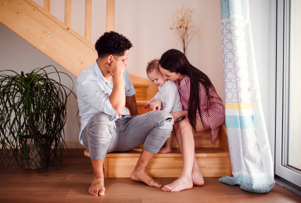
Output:
M168 80L163 86L159 86L159 92L154 98L162 101L163 110L166 110L167 112L183 110L178 87L175 82Z

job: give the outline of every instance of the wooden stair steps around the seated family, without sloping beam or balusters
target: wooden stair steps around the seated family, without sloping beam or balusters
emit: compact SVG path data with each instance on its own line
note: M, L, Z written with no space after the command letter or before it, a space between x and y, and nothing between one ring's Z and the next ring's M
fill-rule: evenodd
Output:
M143 114L152 109L144 109L147 85L134 83L136 90L137 107L139 114ZM138 100L143 99L143 100ZM219 136L214 143L211 143L210 133L194 133L195 153L200 171L204 177L232 176L229 146L227 140L227 130L222 124ZM134 169L143 144L127 152L111 152L104 159L104 176L107 177L130 177ZM146 172L151 177L179 177L182 172L183 158L180 152L176 137L172 142L172 153L157 153L149 163ZM85 150L85 155L89 156L89 151Z

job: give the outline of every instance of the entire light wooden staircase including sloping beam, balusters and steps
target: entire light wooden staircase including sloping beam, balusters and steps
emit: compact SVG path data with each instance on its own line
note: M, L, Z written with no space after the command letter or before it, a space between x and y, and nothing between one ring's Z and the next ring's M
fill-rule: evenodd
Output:
M78 76L97 58L94 45L90 42L91 37L88 34L84 38L71 29L70 12L65 13L65 23L63 23L49 12L50 0L45 2L47 10L33 0L0 0L0 21L69 72ZM70 0L65 1L65 10L70 11L70 7L66 7L68 5L66 2ZM91 0L86 0L86 5L91 6L90 3ZM87 14L86 7L88 25L91 20L91 9L89 9ZM107 31L113 29L114 0L107 0ZM86 27L86 31L89 33L89 28ZM158 86L149 79L133 74L129 74L129 78L136 90L139 114L150 111L149 108L144 109L144 104L158 92ZM210 142L210 134L206 132L194 133L194 138L197 161L203 176L231 175L226 126L224 124L221 126L219 137L213 144ZM129 177L142 147L143 145L127 152L108 153L104 161L105 177ZM182 154L175 137L172 147L172 153L156 154L147 167L150 176L178 177L181 174ZM85 151L85 155L88 155L88 151Z

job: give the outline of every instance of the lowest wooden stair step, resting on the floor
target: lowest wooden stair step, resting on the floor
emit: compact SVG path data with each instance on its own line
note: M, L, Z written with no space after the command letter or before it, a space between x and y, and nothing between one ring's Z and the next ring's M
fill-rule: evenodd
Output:
M108 153L104 160L104 176L130 177L142 148L125 152ZM204 177L231 176L231 163L228 151L217 147L195 148L200 171ZM88 153L85 151L85 154ZM183 168L183 158L179 148L172 153L157 153L150 161L146 172L151 177L179 177Z

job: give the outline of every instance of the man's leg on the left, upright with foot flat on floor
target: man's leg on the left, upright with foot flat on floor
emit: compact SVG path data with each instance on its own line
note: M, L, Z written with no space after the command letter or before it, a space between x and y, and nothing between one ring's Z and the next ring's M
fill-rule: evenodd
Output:
M115 121L103 112L95 113L82 132L82 140L89 150L93 167L93 180L88 191L98 196L104 195L103 161L115 130Z

